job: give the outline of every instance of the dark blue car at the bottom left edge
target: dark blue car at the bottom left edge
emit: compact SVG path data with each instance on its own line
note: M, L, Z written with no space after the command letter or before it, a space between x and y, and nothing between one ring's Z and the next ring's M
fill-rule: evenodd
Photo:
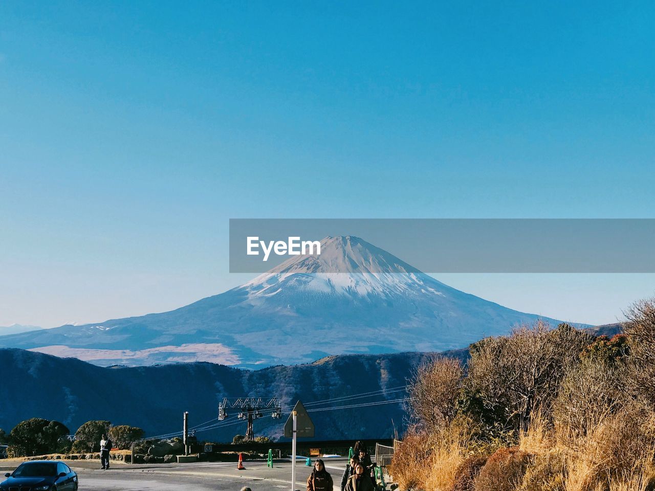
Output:
M77 491L77 474L64 462L23 462L5 477L0 491Z

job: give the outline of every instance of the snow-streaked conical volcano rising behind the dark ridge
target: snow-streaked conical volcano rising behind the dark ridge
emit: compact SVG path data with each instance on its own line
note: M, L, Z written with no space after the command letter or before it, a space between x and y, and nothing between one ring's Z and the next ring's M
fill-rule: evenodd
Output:
M0 336L0 348L103 366L211 361L253 368L464 348L538 318L559 323L458 291L354 236L326 237L320 250L170 312Z

